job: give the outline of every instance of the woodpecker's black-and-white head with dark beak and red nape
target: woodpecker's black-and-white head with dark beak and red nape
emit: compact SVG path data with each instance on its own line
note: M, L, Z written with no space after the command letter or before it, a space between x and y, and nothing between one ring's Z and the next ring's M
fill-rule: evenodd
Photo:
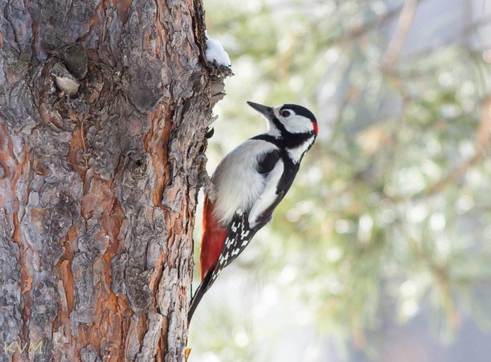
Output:
M268 121L268 133L276 137L310 134L317 136L317 120L307 108L297 104L282 104L269 107L258 103L247 102L261 113Z

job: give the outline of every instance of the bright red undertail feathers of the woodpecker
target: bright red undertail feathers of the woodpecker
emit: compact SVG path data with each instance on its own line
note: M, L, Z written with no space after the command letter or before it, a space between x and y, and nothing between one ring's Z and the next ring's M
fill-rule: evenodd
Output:
M227 230L218 225L213 217L213 203L208 195L205 195L203 235L201 236L201 254L199 255L201 280L206 276L206 273L215 268L226 237Z

